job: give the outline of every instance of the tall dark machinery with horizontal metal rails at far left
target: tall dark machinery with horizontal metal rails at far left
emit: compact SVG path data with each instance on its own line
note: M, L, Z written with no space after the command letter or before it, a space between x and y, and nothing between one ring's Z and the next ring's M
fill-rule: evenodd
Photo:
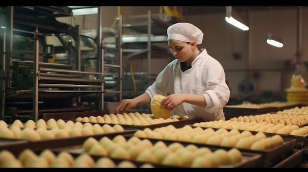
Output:
M72 16L71 9L66 6L0 7L0 120L37 121L43 113L58 112L109 113L103 100L102 54L97 53L96 71L82 70L79 26L55 19L62 16ZM46 37L51 35L62 46L46 44ZM70 39L63 39L63 35ZM67 61L50 63L57 53L67 53ZM90 94L95 95L94 100L81 101Z

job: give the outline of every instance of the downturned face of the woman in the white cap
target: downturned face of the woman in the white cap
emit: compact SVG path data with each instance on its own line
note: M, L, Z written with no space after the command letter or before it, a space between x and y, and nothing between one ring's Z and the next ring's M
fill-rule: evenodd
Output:
M180 62L185 62L192 58L191 44L179 40L168 40L168 45L172 55Z

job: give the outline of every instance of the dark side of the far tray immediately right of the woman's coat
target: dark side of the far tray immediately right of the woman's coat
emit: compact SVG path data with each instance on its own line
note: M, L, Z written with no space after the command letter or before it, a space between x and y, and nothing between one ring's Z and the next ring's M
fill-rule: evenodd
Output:
M225 114L233 114L233 115L260 115L271 112L276 112L277 108L275 107L264 107L264 108L241 108L241 107L233 107L232 105L225 106L223 108L223 112Z

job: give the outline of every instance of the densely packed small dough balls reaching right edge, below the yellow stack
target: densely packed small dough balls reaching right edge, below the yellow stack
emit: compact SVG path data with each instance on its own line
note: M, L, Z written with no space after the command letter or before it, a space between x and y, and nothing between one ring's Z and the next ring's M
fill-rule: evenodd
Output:
M233 117L230 121L238 122L256 122L256 123L284 123L285 125L302 125L308 123L308 115L284 114L284 113L266 113L260 115L249 115Z

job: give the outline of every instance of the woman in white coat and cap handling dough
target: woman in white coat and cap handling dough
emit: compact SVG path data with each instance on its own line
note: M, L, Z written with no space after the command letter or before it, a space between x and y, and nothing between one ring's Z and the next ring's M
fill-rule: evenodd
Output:
M206 49L198 49L203 32L190 23L167 28L168 46L176 59L161 71L144 94L123 99L115 113L123 113L138 104L149 104L156 94L166 96L161 106L174 115L193 116L204 121L225 120L223 107L230 98L221 64Z

